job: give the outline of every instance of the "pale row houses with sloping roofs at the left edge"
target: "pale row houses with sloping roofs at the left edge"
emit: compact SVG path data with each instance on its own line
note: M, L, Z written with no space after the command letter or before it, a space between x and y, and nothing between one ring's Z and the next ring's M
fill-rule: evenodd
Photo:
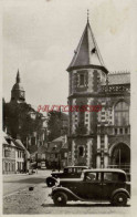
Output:
M30 168L30 153L20 140L13 140L3 132L2 135L2 173L27 173Z

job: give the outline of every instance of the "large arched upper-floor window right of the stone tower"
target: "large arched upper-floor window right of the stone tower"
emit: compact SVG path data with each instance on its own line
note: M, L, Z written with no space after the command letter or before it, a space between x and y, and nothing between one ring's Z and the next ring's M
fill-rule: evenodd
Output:
M115 125L129 125L129 106L125 102L119 102L115 106Z

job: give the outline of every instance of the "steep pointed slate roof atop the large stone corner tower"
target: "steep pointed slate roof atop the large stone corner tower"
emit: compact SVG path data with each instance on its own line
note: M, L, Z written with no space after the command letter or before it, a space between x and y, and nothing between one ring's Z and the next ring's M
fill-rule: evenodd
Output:
M85 66L91 64L104 66L97 43L92 32L89 22L87 21L72 62L67 68L67 71L74 66Z

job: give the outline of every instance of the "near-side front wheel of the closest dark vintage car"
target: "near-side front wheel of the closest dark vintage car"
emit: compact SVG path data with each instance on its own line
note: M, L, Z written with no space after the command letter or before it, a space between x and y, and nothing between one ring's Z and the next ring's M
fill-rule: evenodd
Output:
M67 202L67 196L64 193L55 193L53 196L54 205L56 206L65 206Z

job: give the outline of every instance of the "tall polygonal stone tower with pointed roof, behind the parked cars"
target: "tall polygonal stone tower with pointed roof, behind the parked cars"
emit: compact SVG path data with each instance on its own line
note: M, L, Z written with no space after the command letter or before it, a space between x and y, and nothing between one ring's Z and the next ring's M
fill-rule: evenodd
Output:
M106 81L108 71L104 66L88 18L67 72L70 76L68 105L78 107L68 114L70 162L73 165L95 167L97 112L84 111L82 106L98 104L99 87L102 82Z

